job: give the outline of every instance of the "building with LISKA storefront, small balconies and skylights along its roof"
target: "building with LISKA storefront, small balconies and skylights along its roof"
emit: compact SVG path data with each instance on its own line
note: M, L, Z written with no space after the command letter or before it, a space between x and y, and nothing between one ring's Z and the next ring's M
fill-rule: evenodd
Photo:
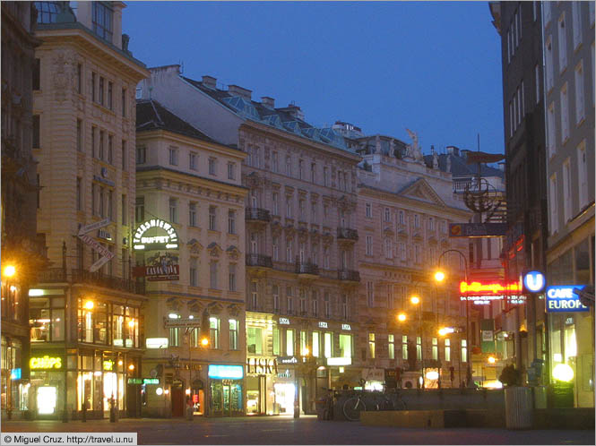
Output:
M151 94L247 155L241 171L248 189L246 356L257 364L277 363L277 373L271 367L246 373L247 411L291 414L296 395L301 411L314 412L322 387L344 377L358 384L361 377L352 335L358 317L359 157L333 129L307 124L297 106L255 101L250 90L221 90L211 76L194 81L179 68L152 68L141 84L143 98ZM327 366L328 358L339 356L354 362Z

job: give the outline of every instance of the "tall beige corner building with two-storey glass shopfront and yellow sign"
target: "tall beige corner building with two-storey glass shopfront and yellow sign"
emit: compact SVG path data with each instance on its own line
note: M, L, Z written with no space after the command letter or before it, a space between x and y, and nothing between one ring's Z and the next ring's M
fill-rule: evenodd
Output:
M138 416L145 299L131 279L134 90L120 2L39 2L33 96L39 237L51 267L30 291L30 410Z

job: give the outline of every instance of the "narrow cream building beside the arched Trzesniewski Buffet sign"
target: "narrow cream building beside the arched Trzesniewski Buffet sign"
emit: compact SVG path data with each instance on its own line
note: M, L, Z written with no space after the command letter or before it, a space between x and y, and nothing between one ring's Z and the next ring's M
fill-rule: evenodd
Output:
M177 234L177 247L161 249L145 246L143 237L163 229L134 237L144 246L135 249L136 264L150 269L137 267L149 299L143 370L158 379L144 386L143 416L184 416L186 398L197 415L244 414L242 373L228 380L213 371L242 370L246 361L246 154L155 100L137 102L136 124L136 227L162 220Z

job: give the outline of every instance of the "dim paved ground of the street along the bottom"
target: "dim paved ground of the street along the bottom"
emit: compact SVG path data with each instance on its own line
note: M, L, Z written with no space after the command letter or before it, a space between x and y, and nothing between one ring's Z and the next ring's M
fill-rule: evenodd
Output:
M315 416L183 419L124 418L10 421L8 432L136 432L139 444L594 444L594 432L506 429L404 429L359 423L320 422Z

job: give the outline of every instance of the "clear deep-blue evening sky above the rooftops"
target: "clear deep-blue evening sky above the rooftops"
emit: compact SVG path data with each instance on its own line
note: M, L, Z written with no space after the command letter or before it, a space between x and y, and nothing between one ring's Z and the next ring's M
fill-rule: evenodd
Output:
M123 32L147 66L294 101L410 143L503 153L500 38L487 2L127 2Z

